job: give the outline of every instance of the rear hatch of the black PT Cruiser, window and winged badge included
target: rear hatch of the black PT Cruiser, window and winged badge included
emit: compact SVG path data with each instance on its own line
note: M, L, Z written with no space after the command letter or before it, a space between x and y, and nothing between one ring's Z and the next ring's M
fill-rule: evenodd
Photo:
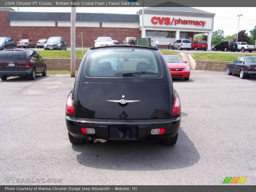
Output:
M139 71L146 74L128 74ZM77 117L169 118L169 91L163 71L162 61L151 50L111 48L93 51L81 75Z

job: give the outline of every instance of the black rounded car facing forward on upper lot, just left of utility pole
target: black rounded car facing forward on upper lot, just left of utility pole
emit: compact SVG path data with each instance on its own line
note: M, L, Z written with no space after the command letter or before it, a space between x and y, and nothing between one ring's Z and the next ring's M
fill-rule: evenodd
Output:
M67 50L67 43L62 37L49 37L44 44L44 50Z

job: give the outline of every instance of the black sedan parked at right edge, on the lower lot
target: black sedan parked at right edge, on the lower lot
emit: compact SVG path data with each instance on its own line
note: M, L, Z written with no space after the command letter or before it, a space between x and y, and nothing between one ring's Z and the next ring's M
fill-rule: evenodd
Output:
M227 75L240 75L241 79L246 76L256 76L256 57L240 56L226 67Z

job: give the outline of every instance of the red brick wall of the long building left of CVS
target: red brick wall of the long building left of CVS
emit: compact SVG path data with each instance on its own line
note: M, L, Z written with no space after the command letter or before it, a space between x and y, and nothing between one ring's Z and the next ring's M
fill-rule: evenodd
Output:
M0 36L11 37L16 42L22 38L22 34L28 34L28 38L32 41L37 41L50 36L61 36L70 47L70 27L58 27L57 22L55 27L23 27L10 26L10 21L7 21L8 11L0 11ZM113 40L118 40L123 44L125 37L140 37L141 31L139 28L102 28L100 27L76 27L76 47L82 47L81 31L83 34L83 46L94 47L94 40L99 36L110 36Z

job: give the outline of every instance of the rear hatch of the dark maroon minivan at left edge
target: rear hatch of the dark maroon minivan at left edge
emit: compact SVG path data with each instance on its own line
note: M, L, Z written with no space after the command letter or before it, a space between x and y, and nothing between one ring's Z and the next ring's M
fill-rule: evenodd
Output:
M6 50L0 53L0 70L25 70L26 53L24 50Z

